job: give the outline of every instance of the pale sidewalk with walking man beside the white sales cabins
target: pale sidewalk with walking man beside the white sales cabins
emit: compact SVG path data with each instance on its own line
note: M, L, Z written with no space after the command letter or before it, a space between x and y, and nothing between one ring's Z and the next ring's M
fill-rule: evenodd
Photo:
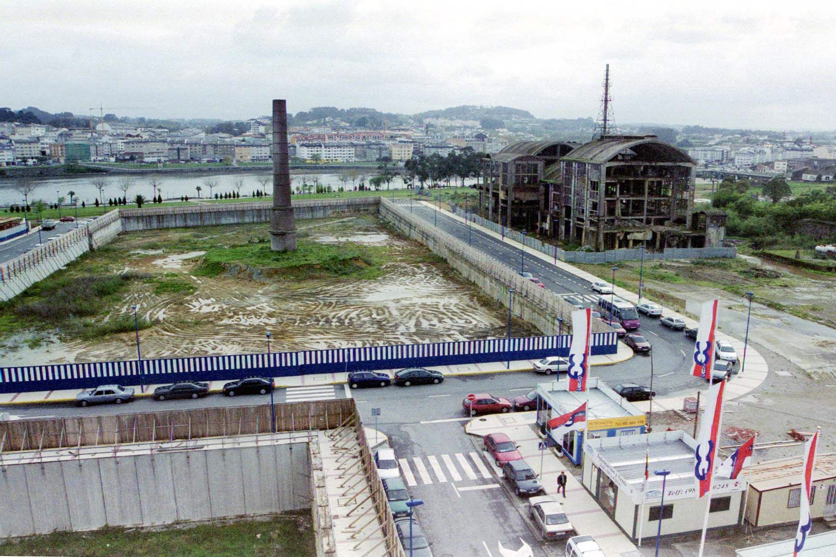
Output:
M536 412L517 412L512 414L490 414L472 419L465 426L465 432L477 437L487 433L505 433L519 446L519 451L526 462L540 471L540 451L538 443L542 440L533 430ZM497 468L494 468L497 470ZM557 495L558 474L566 472L566 498ZM498 473L498 472L497 472ZM549 495L554 495L563 504L563 511L579 535L591 535L608 557L635 557L640 555L635 545L624 535L609 515L604 513L599 504L584 489L572 471L563 465L563 461L548 450L543 456L543 473L540 483Z

